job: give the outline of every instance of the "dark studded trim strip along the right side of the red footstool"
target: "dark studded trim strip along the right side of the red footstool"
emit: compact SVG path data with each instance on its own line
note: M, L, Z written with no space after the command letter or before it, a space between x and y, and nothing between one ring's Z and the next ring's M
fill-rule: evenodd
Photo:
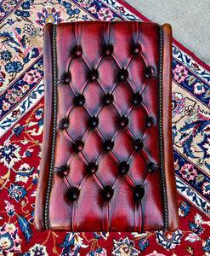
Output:
M159 95L160 95L160 160L161 160L161 172L162 172L162 190L163 190L163 207L164 207L164 228L168 228L168 212L167 212L167 186L166 186L166 177L165 177L165 168L164 168L164 153L163 153L163 125L162 125L162 47L163 47L163 32L162 26L160 27L160 68L159 68Z

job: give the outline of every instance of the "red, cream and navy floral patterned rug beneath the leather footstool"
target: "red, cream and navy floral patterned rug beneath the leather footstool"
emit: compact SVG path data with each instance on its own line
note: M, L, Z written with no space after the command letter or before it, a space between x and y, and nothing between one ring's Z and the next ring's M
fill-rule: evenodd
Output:
M43 136L43 26L146 20L121 0L0 1L0 255L210 255L210 67L173 40L176 232L34 230Z

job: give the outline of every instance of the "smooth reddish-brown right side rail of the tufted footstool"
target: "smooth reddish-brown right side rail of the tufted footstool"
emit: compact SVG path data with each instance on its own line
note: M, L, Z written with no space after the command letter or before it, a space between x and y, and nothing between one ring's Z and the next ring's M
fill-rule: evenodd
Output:
M172 136L172 27L162 26L163 30L163 60L162 60L162 104L163 150L167 189L167 230L179 229L177 187L173 160Z

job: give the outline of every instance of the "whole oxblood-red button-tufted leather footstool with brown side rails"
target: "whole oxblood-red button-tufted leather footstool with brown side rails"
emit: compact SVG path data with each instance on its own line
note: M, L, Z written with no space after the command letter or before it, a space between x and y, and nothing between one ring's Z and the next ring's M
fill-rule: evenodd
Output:
M176 230L171 28L48 24L37 230Z

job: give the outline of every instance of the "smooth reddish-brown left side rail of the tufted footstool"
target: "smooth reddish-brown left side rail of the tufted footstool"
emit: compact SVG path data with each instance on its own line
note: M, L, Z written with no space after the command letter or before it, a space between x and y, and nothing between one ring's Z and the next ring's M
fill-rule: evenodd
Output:
M46 196L48 190L48 176L50 170L52 137L53 137L53 115L54 115L54 67L53 67L53 24L48 23L44 27L44 124L43 124L43 148L38 177L37 195L35 203L34 224L36 230L46 230ZM48 211L48 209L47 209Z

